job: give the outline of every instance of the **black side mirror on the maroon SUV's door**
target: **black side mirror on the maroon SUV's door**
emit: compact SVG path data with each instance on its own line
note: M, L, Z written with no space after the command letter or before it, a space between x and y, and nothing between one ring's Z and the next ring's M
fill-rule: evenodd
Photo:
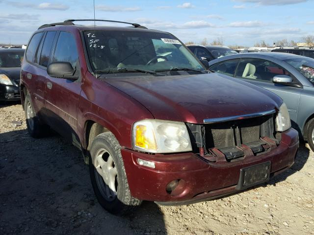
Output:
M78 79L74 76L75 70L69 62L52 62L47 68L47 73L51 77Z

